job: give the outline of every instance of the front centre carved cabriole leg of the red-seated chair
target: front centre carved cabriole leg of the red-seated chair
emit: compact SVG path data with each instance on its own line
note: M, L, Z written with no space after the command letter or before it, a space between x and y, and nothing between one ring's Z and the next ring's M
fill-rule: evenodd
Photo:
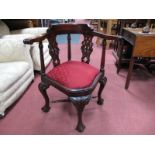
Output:
M78 122L76 126L76 130L79 132L83 132L85 129L85 125L82 121L82 113L84 110L85 105L87 105L90 101L91 96L82 96L82 97L70 97L70 100L72 101L73 105L75 106L78 114Z

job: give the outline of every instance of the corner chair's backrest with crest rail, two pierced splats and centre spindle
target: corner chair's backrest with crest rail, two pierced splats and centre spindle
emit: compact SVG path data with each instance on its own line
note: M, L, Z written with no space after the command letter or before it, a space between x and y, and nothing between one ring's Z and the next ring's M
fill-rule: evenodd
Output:
M82 42L81 51L82 51L82 58L81 61L85 63L89 63L90 61L90 54L93 51L93 43L91 35L93 29L88 27L86 24L79 24L78 26L74 24L62 24L62 25L53 25L50 26L47 30L47 38L49 41L49 53L52 57L54 67L60 64L59 59L59 48L56 42L56 36L61 34L67 34L68 40L68 61L71 60L71 37L70 34L82 34L84 36L84 40Z

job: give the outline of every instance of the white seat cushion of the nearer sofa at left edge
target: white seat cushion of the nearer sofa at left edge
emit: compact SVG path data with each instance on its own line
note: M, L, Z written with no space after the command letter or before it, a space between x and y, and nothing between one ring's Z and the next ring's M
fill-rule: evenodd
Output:
M29 68L24 61L0 63L0 93L17 82Z

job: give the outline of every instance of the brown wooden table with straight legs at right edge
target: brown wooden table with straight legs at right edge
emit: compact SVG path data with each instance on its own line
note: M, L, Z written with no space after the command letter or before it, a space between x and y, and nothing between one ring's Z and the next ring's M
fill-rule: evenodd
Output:
M149 33L143 33L142 28L123 28L122 38L124 39L123 42L126 41L132 46L130 59L128 59L130 65L125 83L125 89L128 89L134 64L140 63L148 68L151 64L150 60L155 58L155 29L151 29ZM119 48L121 50L117 59L117 73L120 71L121 63L125 60L122 51L124 43L121 47Z

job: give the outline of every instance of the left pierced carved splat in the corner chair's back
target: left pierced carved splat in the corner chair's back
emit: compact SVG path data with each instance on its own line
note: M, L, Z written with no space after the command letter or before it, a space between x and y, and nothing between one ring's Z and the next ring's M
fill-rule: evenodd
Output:
M52 62L54 67L58 66L60 64L60 59L59 59L59 48L58 48L58 44L56 42L56 36L52 36L48 39L49 41L49 54L52 57Z

